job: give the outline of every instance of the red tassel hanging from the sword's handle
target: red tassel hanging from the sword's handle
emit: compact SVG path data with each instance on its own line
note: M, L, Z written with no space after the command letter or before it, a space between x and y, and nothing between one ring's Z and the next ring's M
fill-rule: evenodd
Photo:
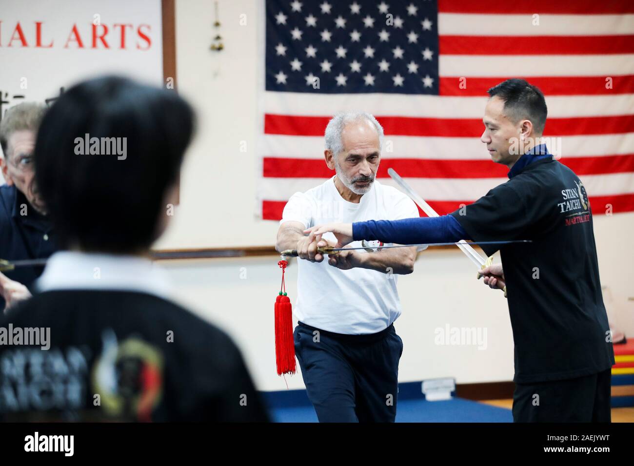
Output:
M281 268L280 294L275 299L275 362L278 375L295 373L293 311L284 284L284 272L287 265L287 261L278 262L278 266Z

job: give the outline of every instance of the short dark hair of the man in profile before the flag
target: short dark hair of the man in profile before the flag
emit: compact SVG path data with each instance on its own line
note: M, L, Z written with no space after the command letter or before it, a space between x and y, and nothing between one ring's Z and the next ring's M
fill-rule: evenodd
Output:
M548 108L540 88L524 79L507 79L487 91L489 96L498 96L504 101L504 110L513 122L531 120L535 132L543 133Z

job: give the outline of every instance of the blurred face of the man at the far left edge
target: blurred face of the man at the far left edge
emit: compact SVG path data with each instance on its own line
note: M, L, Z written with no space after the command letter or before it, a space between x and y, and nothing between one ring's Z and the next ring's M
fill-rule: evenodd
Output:
M35 184L33 169L33 150L36 145L34 131L16 131L7 140L7 152L1 162L4 179L27 197L29 203L39 212L44 212L42 202Z

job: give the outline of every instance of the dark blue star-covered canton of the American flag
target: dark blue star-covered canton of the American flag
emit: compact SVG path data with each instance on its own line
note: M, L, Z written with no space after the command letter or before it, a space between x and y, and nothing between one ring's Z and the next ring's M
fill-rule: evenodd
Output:
M436 1L266 0L266 90L438 95Z

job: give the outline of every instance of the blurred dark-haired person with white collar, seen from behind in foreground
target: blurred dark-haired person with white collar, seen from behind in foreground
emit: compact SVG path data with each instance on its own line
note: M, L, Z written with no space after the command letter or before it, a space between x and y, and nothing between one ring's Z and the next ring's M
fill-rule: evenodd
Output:
M169 301L147 258L194 115L175 93L106 77L49 109L34 153L62 251L0 320L5 420L266 421L240 351Z

